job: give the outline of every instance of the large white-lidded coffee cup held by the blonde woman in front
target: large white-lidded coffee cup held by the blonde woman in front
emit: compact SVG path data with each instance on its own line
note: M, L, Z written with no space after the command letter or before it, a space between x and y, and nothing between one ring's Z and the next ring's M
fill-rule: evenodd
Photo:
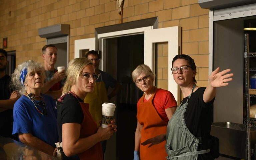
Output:
M108 127L108 124L110 124L111 120L113 120L115 108L116 106L113 103L102 104L102 128Z

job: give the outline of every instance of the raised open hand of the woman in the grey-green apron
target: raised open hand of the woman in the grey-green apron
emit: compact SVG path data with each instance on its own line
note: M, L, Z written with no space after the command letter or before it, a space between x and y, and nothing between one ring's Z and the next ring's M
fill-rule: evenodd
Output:
M215 69L210 75L209 75L209 81L211 83L212 87L221 87L221 86L227 86L229 81L232 81L233 79L231 78L234 74L228 72L231 71L231 69L225 69L221 72L220 67Z

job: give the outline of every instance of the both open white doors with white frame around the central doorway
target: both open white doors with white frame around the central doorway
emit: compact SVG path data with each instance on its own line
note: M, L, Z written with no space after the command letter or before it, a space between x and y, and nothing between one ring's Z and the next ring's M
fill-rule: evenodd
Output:
M181 46L181 27L168 27L161 29L153 29L153 27L144 27L132 30L124 30L99 34L99 49L102 51L102 59L100 69L105 70L105 49L104 40L113 37L121 37L127 35L143 34L144 33L144 64L148 65L155 73L155 44L159 42L168 42L168 90L173 94L177 102L180 102L180 89L172 78L171 63L175 55L180 53ZM95 50L95 38L75 40L75 58L82 56L83 50Z

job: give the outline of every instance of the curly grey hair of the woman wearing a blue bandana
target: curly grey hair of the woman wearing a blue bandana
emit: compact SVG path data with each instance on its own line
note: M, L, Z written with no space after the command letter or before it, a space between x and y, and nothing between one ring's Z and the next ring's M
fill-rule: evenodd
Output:
M44 72L44 67L41 65L41 63L34 62L33 60L29 60L29 61L19 64L18 67L14 70L13 74L11 75L11 79L12 79L11 87L13 87L15 90L18 90L20 95L23 95L27 90L27 87L23 86L20 81L20 73L21 73L22 69L25 67L27 68L27 71L28 71L27 75L31 71L41 71L42 77L44 79L46 78L45 72ZM43 79L43 81L44 81L44 79ZM25 79L24 83L26 83L26 81L27 80Z

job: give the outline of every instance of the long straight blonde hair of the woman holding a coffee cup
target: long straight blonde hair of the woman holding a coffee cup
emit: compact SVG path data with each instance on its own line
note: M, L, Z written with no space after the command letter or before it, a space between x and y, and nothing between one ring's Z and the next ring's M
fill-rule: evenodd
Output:
M92 61L85 57L75 58L69 62L66 72L67 80L63 86L62 94L70 91L71 87L77 84L80 73L89 64L92 64Z

